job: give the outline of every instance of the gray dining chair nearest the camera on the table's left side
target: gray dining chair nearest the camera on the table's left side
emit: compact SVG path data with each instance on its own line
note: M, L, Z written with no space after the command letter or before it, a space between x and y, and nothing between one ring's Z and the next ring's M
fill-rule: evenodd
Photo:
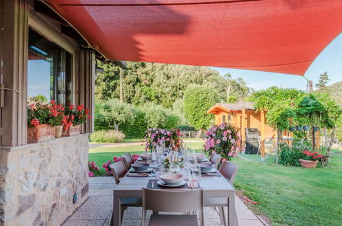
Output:
M120 183L120 178L125 177L125 174L127 173L127 168L123 161L114 162L113 164L110 164L110 171L112 172L112 175L115 179L115 183ZM121 222L123 220L123 214L127 207L130 206L143 206L143 201L141 198L121 198L120 199L121 204ZM113 221L113 219L112 219Z

